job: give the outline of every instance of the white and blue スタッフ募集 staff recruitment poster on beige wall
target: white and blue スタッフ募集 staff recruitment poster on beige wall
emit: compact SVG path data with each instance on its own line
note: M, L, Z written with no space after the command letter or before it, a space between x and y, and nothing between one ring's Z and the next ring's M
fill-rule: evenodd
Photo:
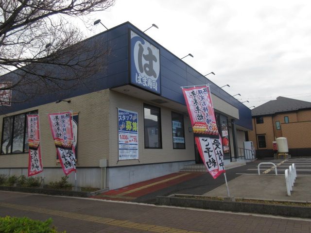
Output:
M138 113L118 108L119 160L138 159Z

